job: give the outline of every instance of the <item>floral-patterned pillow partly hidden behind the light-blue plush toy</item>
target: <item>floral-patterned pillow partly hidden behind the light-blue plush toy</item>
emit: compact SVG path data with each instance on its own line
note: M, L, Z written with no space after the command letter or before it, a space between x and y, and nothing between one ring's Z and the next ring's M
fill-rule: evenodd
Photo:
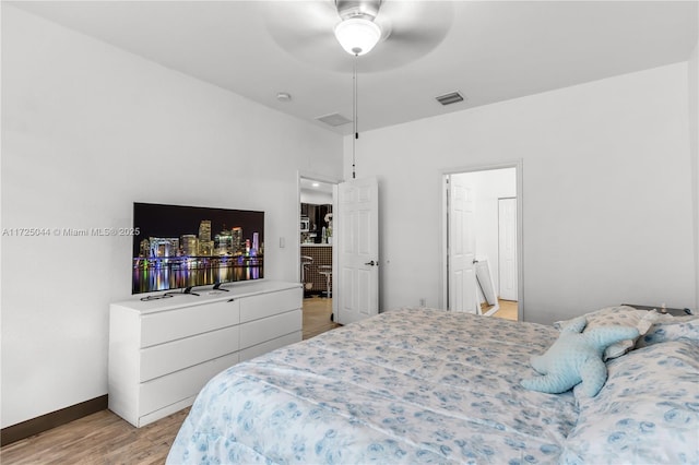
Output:
M633 307L628 306L606 307L584 314L588 319L588 325L583 330L583 333L600 326L628 326L636 327L640 337L648 332L653 322L657 320L659 315L660 313L655 310L637 310ZM557 321L554 323L554 326L557 330L562 331L568 326L568 324L570 324L570 322L572 322L572 319ZM623 356L633 348L637 339L638 338L626 339L612 344L606 348L606 350L604 350L603 359L606 361L611 358Z

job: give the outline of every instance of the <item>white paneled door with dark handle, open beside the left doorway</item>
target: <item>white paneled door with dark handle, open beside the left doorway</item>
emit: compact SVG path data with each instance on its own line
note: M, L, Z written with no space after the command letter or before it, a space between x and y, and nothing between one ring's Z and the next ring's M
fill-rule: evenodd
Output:
M337 323L347 324L379 312L379 186L376 178L365 178L336 189L335 312Z

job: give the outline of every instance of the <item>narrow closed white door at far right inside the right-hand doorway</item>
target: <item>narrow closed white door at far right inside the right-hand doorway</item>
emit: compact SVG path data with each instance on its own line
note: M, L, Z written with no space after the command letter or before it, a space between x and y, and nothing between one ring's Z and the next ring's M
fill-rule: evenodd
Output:
M517 199L498 199L498 282L503 300L517 300Z

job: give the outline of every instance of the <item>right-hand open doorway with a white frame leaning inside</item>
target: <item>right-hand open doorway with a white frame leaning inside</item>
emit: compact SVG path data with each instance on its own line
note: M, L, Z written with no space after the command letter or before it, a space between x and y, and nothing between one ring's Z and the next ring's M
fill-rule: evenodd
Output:
M445 175L445 301L522 319L520 165Z

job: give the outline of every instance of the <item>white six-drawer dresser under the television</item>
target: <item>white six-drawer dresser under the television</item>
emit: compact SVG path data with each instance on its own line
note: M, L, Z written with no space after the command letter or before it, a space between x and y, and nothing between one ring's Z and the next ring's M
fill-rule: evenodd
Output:
M109 409L142 427L194 401L216 373L301 339L300 284L241 283L109 307Z

